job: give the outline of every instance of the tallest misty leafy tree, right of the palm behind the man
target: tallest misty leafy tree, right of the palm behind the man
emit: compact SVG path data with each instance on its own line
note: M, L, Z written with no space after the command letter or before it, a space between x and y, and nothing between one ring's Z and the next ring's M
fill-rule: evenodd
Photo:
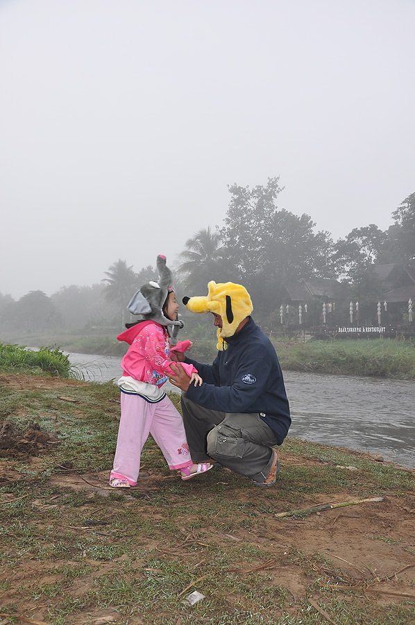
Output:
M252 190L232 185L222 231L229 263L263 310L276 308L287 281L334 276L330 234L314 233L308 215L279 210L281 191L278 177Z

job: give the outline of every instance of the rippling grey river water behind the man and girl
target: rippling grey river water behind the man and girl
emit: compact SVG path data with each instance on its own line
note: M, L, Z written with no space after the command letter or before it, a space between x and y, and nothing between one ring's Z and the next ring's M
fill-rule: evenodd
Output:
M121 358L69 353L85 380L121 376ZM415 467L415 382L286 371L289 435L359 451ZM166 390L177 389L170 383Z

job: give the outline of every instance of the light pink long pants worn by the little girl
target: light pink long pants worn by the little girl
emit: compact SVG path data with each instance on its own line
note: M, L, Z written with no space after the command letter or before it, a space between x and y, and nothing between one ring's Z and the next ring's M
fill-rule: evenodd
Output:
M193 464L182 417L169 397L150 403L139 395L121 392L121 420L111 478L126 478L130 485L137 484L141 452L149 434L162 450L169 469Z

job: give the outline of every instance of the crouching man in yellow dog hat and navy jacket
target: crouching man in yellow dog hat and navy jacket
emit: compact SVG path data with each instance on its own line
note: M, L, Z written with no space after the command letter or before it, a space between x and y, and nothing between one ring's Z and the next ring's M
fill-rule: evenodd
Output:
M276 351L251 317L246 289L231 282L208 285L207 297L184 297L194 313L210 312L217 326L219 353L212 365L178 354L203 378L190 385L184 369L172 365L171 383L182 393L183 422L194 462L216 460L256 485L276 481L282 444L291 418Z

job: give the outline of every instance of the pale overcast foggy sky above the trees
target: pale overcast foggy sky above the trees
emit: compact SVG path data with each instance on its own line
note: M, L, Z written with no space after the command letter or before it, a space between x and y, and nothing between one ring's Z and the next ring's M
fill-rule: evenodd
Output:
M415 0L0 0L0 292L170 265L227 185L334 239L415 191Z

